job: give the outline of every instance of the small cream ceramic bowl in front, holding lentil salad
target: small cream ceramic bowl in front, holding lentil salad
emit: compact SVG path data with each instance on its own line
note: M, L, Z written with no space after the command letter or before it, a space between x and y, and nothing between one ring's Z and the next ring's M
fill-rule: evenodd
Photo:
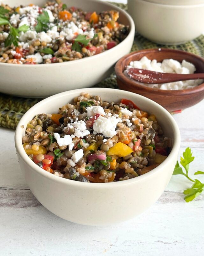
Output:
M164 134L172 138L173 145L169 156L157 168L142 176L112 183L67 180L41 169L24 151L22 137L25 134L26 124L36 114L57 113L59 107L72 102L80 92L99 95L102 100L114 102L126 98L135 102L139 108L154 113ZM144 212L161 196L176 164L180 132L169 112L148 98L116 89L86 88L59 93L29 109L16 129L15 146L29 188L49 211L79 224L110 225Z

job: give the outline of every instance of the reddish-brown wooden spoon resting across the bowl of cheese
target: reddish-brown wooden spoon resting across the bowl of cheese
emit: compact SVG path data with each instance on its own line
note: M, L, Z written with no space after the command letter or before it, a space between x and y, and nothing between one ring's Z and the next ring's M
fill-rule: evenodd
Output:
M204 73L184 75L161 73L141 68L128 68L126 74L134 80L144 84L164 84L184 80L204 79Z

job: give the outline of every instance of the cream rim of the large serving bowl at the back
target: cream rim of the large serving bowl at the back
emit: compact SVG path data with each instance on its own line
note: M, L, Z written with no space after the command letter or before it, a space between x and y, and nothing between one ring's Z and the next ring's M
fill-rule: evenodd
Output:
M2 0L4 2L4 0ZM86 0L87 2L89 2L89 0ZM118 48L118 46L120 45L120 47L123 47L123 44L125 44L128 40L131 39L132 37L132 34L134 33L135 34L135 23L133 21L133 18L129 15L128 12L126 12L125 10L121 9L120 7L114 5L114 4L111 4L109 2L104 2L104 1L101 1L101 0L91 0L93 2L97 2L98 4L105 4L107 6L109 6L110 8L115 8L116 10L118 10L120 13L123 13L127 19L128 19L128 23L129 23L129 26L130 26L130 30L129 30L129 33L128 33L128 36L122 41L120 42L119 44L117 44L115 47L109 49L109 50L106 50L105 52L101 52L99 54L95 54L93 56L90 56L90 57L86 57L86 58L82 58L82 59L79 59L79 60L72 60L72 61L66 61L66 62L60 62L60 63L52 63L52 67L54 67L53 65L58 65L58 64L61 64L61 65L71 65L70 63L79 63L79 62L83 62L83 61L86 61L87 59L89 60L94 60L95 58L98 57L98 55L100 56L105 56L105 54L111 54L115 49ZM6 65L8 67L13 67L14 64L11 64L11 63L1 63L0 62L0 67L1 65ZM40 67L40 68L47 68L47 64L43 63L43 64L35 64L35 65L20 65L20 64L16 64L15 65L15 68L21 68L21 67L25 67L25 68L36 68L36 67Z

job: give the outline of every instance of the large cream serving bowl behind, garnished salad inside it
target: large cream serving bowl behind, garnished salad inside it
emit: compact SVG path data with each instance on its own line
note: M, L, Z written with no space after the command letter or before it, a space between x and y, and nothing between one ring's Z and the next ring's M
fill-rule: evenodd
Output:
M32 0L43 6L46 0ZM10 6L27 5L27 0L0 0ZM76 6L87 12L117 10L119 22L130 26L125 40L112 49L81 60L55 64L17 65L0 63L0 92L22 97L47 97L67 90L91 87L113 72L113 65L130 52L135 25L130 15L115 5L99 0L64 0L67 6Z

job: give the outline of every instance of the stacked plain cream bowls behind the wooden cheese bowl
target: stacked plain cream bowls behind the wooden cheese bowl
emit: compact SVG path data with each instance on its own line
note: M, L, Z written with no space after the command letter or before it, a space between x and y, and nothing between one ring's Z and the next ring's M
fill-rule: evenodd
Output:
M182 44L203 33L204 0L128 0L135 29L159 44Z

